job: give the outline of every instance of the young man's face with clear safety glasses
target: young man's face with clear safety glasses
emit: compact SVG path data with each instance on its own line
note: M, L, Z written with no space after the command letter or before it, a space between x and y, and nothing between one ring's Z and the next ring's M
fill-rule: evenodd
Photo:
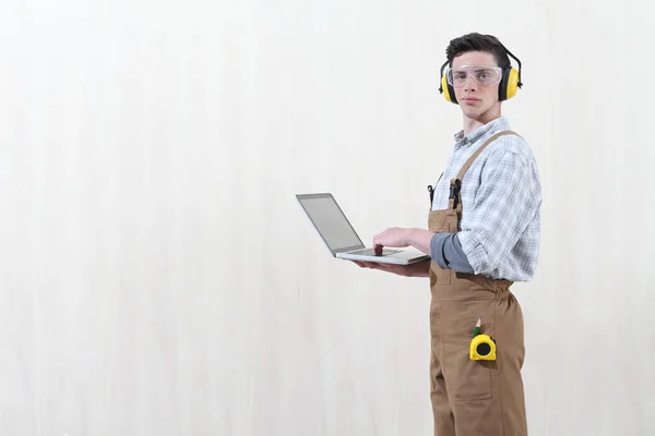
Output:
M498 86L502 72L493 55L484 51L460 55L453 59L452 75L455 97L466 117L480 120L499 108Z

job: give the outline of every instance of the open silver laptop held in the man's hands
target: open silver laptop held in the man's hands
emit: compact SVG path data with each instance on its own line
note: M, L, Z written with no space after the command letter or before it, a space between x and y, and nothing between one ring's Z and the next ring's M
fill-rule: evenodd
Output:
M381 254L376 254L374 247L366 246L361 242L350 221L330 193L297 194L296 198L334 257L396 265L409 265L430 258L414 247L384 247Z

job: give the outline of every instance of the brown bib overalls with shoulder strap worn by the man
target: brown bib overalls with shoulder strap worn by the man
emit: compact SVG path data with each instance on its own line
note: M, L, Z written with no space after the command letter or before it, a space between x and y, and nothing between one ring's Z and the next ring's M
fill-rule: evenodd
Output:
M433 232L457 232L462 216L458 186L477 156L498 136L487 141L451 181L448 209L430 210ZM527 435L521 368L523 314L509 280L430 266L430 397L436 436ZM496 361L473 361L468 350L475 325L496 341Z

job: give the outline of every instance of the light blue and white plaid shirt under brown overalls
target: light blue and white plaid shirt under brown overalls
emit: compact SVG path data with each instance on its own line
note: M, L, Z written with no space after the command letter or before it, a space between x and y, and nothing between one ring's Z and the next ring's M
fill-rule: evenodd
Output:
M500 117L467 135L462 131L455 135L453 153L434 189L432 210L449 207L450 180L490 136L504 130L511 128ZM457 265L465 265L460 270L528 281L537 266L540 215L541 185L531 148L521 136L500 136L466 171L461 231L439 233L432 240L432 253L439 255L432 258L441 267L457 270ZM442 254L449 261L460 257L460 262L449 265Z

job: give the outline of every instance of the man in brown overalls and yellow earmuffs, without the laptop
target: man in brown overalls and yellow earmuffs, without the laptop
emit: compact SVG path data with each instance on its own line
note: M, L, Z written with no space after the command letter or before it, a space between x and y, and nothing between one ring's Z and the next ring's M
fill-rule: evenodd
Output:
M460 106L463 129L433 191L428 230L390 228L373 239L377 249L414 246L431 258L357 264L429 277L434 435L526 435L523 315L510 286L535 272L541 189L527 143L501 114L522 85L521 66L490 35L455 38L445 51L441 90ZM490 339L484 347L474 343L480 335Z

